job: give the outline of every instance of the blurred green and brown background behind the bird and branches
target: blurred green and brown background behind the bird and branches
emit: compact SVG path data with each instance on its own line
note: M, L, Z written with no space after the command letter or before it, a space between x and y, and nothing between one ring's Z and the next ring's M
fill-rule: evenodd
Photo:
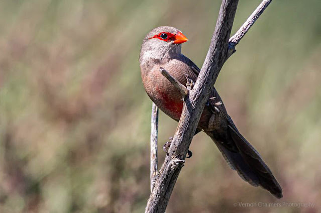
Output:
M261 1L240 1L232 34ZM157 26L189 39L199 67L221 1L0 1L0 212L143 212L151 100L139 51ZM216 83L239 130L284 191L232 171L198 134L166 212L321 209L321 2L273 1ZM177 123L160 113L161 147ZM235 207L314 203L307 207Z

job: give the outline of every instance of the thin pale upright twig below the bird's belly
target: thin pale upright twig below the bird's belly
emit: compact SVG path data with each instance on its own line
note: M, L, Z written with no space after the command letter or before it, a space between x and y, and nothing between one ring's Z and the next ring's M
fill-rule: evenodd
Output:
M154 188L158 170L157 170L157 134L158 134L158 107L155 103L152 105L151 118L151 191Z

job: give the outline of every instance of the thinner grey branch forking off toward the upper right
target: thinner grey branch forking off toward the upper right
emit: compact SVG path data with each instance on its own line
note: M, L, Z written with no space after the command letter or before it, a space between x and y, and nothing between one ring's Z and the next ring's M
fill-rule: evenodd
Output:
M235 53L235 46L239 44L244 35L250 30L252 25L261 16L263 11L270 5L272 0L263 0L251 16L246 20L242 27L229 40L229 57Z

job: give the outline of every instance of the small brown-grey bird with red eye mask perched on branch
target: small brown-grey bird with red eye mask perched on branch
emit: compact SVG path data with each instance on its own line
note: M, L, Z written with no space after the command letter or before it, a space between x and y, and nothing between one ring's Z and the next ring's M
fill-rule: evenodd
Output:
M183 85L188 75L196 81L200 69L181 53L182 43L188 41L183 33L168 26L157 27L144 38L139 63L144 88L150 99L167 116L179 121L182 94L160 73L165 69ZM195 134L203 131L217 145L228 165L253 186L261 186L277 198L282 188L256 149L241 135L225 105L212 87L201 114Z

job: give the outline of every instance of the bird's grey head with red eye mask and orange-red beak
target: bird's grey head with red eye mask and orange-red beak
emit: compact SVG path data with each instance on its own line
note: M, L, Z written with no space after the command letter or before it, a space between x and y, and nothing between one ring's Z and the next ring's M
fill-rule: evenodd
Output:
M149 32L142 44L141 59L168 60L181 54L181 44L188 41L180 30L158 27Z

